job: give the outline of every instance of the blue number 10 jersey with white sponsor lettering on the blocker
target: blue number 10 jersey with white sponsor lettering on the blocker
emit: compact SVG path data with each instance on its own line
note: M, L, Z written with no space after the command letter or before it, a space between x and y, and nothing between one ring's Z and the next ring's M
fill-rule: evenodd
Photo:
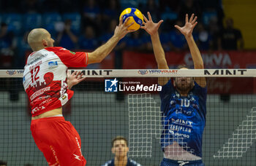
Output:
M196 82L187 97L181 96L171 80L160 92L162 125L162 150L176 141L184 150L202 157L202 137L206 125L206 87Z

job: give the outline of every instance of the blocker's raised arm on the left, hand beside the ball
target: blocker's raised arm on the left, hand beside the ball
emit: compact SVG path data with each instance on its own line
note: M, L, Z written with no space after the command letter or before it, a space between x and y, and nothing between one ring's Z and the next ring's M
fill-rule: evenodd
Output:
M163 22L163 20L159 20L158 23L154 23L152 21L151 15L148 12L148 19L143 15L145 22L143 22L143 28L148 34L151 36L151 41L153 45L153 50L154 50L154 57L157 60L157 66L159 69L169 69L167 66L167 61L165 59L165 52L162 49L162 44L159 39L159 34L158 34L158 28ZM168 77L159 77L158 78L158 84L159 85L164 85L169 81L170 78Z

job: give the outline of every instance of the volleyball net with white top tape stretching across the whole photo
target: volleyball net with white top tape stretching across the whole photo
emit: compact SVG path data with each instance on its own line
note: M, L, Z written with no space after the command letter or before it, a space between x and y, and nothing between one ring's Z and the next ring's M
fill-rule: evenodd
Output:
M203 162L256 165L256 69L78 71L87 79L72 88L75 94L63 113L80 134L87 165L103 165L113 159L111 140L117 135L127 138L129 158L141 165L159 165L164 156L165 117L157 79L180 76L207 80ZM31 136L30 108L22 82L23 70L0 71L0 160L8 165L47 165ZM179 127L169 127L167 132L190 151L181 142L192 122L176 121Z

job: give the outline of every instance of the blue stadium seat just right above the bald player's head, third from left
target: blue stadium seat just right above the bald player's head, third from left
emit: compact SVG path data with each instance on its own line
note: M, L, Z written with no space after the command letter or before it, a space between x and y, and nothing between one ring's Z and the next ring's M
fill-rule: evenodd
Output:
M48 12L42 15L42 27L48 30L53 36L56 36L54 25L62 21L61 15L57 12Z

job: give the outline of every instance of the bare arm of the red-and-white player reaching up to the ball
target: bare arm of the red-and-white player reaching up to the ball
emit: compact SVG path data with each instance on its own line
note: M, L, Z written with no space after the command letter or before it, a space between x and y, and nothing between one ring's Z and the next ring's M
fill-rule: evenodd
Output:
M129 17L123 23L123 17L121 17L121 19L119 20L119 25L116 26L115 32L113 36L108 40L108 42L97 48L97 50L95 50L94 52L88 53L88 64L100 63L107 55L110 54L113 48L116 47L116 44L119 42L119 40L121 40L127 33L134 31L127 30L127 28L132 25L132 23L126 25L128 20Z

